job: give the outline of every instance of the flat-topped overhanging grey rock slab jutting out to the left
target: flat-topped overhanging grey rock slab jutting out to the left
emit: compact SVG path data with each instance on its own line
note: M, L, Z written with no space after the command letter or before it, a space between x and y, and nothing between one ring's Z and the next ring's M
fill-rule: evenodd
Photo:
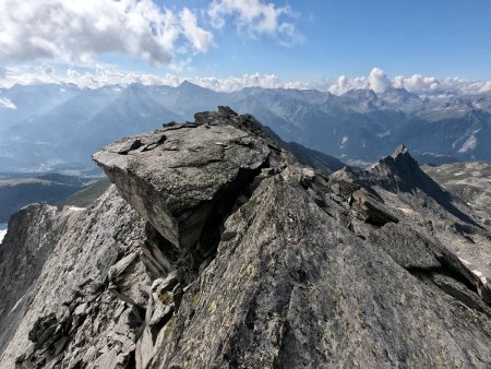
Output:
M235 127L181 124L123 139L94 159L124 200L190 253L211 213L219 212L268 155L264 143Z

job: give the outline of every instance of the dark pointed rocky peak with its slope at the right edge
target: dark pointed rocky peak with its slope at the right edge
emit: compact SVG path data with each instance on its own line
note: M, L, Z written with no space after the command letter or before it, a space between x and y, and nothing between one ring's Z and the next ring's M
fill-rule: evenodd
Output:
M404 145L351 181L363 186L397 217L444 245L474 277L491 281L490 227L479 212L441 188L418 166ZM394 213L393 213L394 214ZM434 243L434 242L432 242Z

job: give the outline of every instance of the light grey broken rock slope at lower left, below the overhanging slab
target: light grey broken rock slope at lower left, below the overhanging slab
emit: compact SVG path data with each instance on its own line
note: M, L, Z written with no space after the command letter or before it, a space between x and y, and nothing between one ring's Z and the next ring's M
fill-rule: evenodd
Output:
M2 343L0 367L75 368L91 362L109 368L109 362L123 360L119 354L131 356L141 311L111 293L108 274L125 254L140 251L144 224L113 188L85 210L33 205L15 215L1 245L2 261L26 258L28 250L36 258L45 249L50 252L37 267L28 259L23 275L2 274L2 302L13 307L2 313L1 331L11 334ZM10 270L22 271L22 263ZM125 271L128 282L135 281L131 272ZM9 289L23 297L16 302L16 296L5 295Z

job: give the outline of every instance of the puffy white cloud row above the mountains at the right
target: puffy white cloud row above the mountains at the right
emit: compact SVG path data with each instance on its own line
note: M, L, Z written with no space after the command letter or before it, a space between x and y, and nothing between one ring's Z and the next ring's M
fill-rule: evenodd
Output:
M373 68L368 76L348 79L346 75L340 75L327 91L336 95L342 95L349 90L373 90L375 93L384 93L391 87L406 88L423 96L448 93L468 95L491 92L491 81L470 81L460 78L438 80L420 74L396 75L391 80L382 69Z

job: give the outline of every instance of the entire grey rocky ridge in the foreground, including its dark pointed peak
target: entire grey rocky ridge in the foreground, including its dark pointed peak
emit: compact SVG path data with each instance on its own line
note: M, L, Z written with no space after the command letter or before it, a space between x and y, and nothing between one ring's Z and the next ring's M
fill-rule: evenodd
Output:
M490 230L405 147L328 175L220 107L94 159L118 194L9 226L1 368L491 366Z

